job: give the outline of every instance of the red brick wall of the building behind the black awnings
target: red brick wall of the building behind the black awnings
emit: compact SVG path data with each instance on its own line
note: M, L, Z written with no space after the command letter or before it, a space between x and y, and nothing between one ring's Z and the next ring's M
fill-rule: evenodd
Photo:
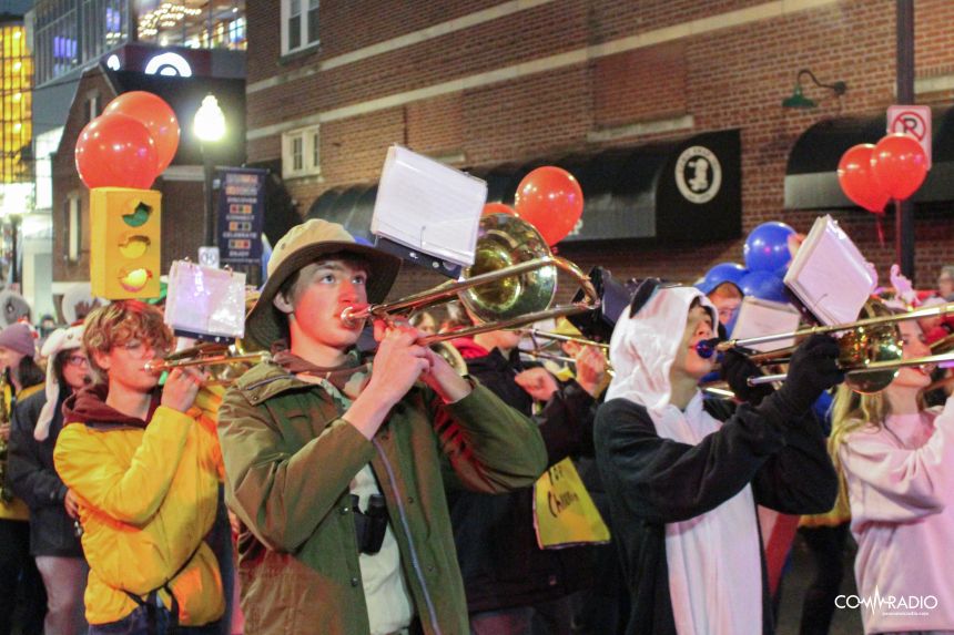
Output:
M758 0L560 0L361 62L315 73L248 94L248 127L362 103L394 93L547 55L606 43L729 11L763 4ZM445 20L499 4L425 0L393 3L382 14L369 0L322 6L322 47L293 59L278 54L277 0L250 3L248 83L314 66L359 47L382 42ZM439 10L436 7L439 6ZM254 7L254 8L253 8ZM916 74L954 74L954 3L916 3ZM799 135L823 117L875 114L894 99L894 4L844 0L742 27L595 59L516 80L456 92L336 121L322 127L321 180L288 181L307 209L329 187L377 178L386 147L394 142L430 154L463 153L467 165L519 161L561 151L596 151L637 145L692 132L742 131L743 231L765 221L784 221L806 231L815 213L783 212L785 162ZM781 107L798 71L809 68L823 82L842 80L841 100L806 85L820 101L813 111ZM294 95L294 99L288 99ZM950 104L954 91L919 95L922 103ZM694 129L620 139L603 144L587 134L603 127L692 115ZM248 144L251 161L281 155L281 135ZM933 283L937 268L954 263L954 214L948 206L919 211L916 281ZM883 276L893 262L893 218L884 219L881 246L874 216L834 214ZM742 240L710 245L630 247L568 246L564 254L588 267L601 264L620 277L661 275L692 280L721 260L742 259ZM432 284L430 274L408 270L397 291ZM567 291L568 294L569 291Z

